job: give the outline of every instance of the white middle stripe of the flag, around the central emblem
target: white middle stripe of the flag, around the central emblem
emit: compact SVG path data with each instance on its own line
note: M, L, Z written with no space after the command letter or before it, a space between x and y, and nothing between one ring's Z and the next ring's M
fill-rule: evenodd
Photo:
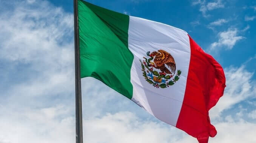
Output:
M187 32L166 24L130 16L128 35L128 47L134 55L131 67L132 100L158 119L176 126L184 99L190 62ZM175 73L178 69L182 72L180 79L165 89L156 88L145 80L139 61L147 57L148 51L158 50L170 53L176 62Z

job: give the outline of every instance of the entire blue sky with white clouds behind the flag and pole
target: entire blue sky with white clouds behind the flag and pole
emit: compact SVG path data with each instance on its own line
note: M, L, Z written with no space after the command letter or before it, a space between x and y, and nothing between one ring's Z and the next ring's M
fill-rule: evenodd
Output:
M256 143L256 1L88 0L186 30L224 68L209 143ZM74 143L72 0L0 0L0 143ZM82 79L85 143L197 143L93 78Z

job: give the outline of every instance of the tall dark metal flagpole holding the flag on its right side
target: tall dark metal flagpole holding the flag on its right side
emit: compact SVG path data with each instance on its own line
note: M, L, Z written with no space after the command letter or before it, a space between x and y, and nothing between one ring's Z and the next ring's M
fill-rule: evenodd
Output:
M75 38L75 82L76 82L76 143L83 143L82 93L80 77L79 27L77 0L74 0L74 38Z

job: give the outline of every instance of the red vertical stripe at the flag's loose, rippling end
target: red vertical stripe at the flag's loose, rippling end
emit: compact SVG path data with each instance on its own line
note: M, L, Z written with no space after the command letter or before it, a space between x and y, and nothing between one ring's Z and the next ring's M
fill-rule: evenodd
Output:
M226 79L221 65L189 38L187 86L176 127L196 137L199 143L208 143L209 136L217 134L208 111L223 95Z

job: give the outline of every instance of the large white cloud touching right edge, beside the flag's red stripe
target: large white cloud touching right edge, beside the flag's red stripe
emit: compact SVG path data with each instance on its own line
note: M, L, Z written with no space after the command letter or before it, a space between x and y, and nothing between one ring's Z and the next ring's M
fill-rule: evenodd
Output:
M244 66L239 68L224 69L226 85L224 96L221 97L216 106L210 110L210 116L220 117L222 111L231 108L234 104L256 97L256 81L253 80L253 72L248 72Z

